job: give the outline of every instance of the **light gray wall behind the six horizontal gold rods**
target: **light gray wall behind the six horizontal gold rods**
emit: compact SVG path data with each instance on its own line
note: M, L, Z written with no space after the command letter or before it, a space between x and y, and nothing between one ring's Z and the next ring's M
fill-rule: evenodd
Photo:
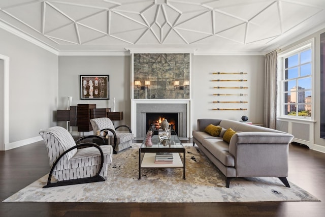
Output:
M264 122L264 56L194 56L192 69L192 103L194 130L199 118L241 120L248 116L254 123ZM246 72L247 75L213 75L213 72ZM215 79L247 79L247 82L212 82ZM218 90L213 86L248 86L245 89ZM221 91L247 93L248 96L216 97ZM247 104L215 104L212 101L247 101ZM212 108L247 108L247 110L212 110Z

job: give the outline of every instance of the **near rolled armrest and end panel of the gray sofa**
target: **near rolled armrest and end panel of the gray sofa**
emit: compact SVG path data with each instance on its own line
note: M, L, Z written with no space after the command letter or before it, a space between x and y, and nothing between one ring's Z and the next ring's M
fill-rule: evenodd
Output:
M289 143L286 133L241 132L231 138L229 152L235 157L237 177L287 177Z

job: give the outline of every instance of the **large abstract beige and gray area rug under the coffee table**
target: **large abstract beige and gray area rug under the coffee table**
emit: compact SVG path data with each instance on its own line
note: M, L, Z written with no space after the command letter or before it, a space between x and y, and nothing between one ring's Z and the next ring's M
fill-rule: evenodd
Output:
M140 144L114 154L107 180L46 188L47 175L7 198L4 202L256 202L318 201L290 183L286 188L273 177L234 178L225 188L224 175L200 153L186 147L186 180L182 169L142 169L138 179Z

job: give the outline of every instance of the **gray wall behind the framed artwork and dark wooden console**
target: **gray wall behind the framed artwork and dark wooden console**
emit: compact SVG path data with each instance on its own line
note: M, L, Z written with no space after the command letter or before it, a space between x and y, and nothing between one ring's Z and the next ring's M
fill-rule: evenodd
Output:
M59 109L66 109L68 96L72 105L96 104L96 108L113 109L123 112L123 120L115 125L131 124L131 56L59 56ZM109 75L110 100L80 100L79 75ZM65 122L58 122L65 127ZM74 128L73 131L77 131Z

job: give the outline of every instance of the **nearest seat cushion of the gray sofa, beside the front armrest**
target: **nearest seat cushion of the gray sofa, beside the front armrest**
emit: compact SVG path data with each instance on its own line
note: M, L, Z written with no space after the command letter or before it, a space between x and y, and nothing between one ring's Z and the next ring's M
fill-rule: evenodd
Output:
M223 141L221 138L216 139L205 139L202 142L202 145L208 149L213 156L218 159L223 165L234 167L235 158L229 153L229 144Z

